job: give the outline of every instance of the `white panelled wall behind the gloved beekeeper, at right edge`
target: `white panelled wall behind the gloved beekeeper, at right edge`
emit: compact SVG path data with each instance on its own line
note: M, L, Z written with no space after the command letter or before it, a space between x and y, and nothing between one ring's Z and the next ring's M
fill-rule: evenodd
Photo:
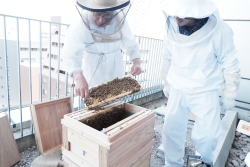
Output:
M235 47L241 68L241 84L237 106L250 109L250 0L217 0L220 15L234 31Z

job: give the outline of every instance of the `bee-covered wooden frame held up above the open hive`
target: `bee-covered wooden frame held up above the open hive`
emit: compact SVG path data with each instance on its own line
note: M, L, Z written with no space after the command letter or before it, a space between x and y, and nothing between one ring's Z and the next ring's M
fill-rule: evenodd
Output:
M116 78L90 89L90 99L85 100L87 109L108 105L120 98L141 90L140 84L131 77Z

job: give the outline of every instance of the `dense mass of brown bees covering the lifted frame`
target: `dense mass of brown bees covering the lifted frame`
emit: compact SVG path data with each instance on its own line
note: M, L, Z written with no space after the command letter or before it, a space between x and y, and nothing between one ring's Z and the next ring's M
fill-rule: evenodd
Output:
M105 84L91 88L89 91L89 96L91 98L84 100L84 102L87 106L89 106L93 104L93 99L96 99L97 102L101 102L122 93L138 92L140 89L140 84L131 77L124 77L120 79L116 78Z

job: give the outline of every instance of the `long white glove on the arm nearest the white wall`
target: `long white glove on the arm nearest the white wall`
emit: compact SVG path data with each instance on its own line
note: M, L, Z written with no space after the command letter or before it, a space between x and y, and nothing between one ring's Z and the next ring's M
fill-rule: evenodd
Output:
M223 75L225 79L224 89L222 90L221 97L221 113L225 114L227 110L231 110L235 106L235 98L237 96L238 88L240 85L240 71L237 73L229 73L223 70Z

